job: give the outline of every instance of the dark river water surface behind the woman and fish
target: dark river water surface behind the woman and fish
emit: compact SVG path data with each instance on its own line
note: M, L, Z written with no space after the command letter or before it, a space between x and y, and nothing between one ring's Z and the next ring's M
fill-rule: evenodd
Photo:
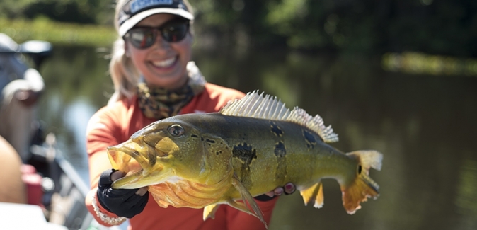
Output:
M112 92L103 56L55 47L41 69L40 117L85 180L86 122ZM343 209L338 183L325 180L323 208L305 207L299 192L281 197L270 229L476 229L477 78L388 72L381 59L354 54L195 56L210 82L319 113L340 134L336 148L384 154L383 169L370 171L381 195L356 214Z

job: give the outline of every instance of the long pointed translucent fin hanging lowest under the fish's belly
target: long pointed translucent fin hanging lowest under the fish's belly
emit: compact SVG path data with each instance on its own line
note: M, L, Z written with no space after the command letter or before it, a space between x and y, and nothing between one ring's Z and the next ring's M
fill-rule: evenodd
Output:
M262 211L260 210L260 207L258 207L257 202L255 202L255 200L253 200L252 195L250 194L250 192L248 192L247 188L245 188L245 186L243 186L241 181L238 180L238 176L235 173L234 173L234 176L232 177L232 185L234 185L236 190L238 190L238 192L240 193L243 202L244 203L248 202L248 205L250 205L252 207L253 212L255 212L255 214L250 212L248 207L246 205L244 205L243 203L237 203L234 200L229 200L228 201L229 205L231 207L235 207L236 209L241 210L243 212L247 212L248 214L252 214L253 216L260 219L260 221L263 222L263 224L265 224L265 226L267 226L267 224L265 223L265 219L263 219Z

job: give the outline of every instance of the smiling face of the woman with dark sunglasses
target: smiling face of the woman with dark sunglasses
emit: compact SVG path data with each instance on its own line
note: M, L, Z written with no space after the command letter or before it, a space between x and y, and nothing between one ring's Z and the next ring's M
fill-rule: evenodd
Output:
M192 35L187 27L188 21L178 21L177 16L160 13L145 18L126 33L126 55L142 73L144 81L171 89L185 84L192 47ZM162 28L161 36L156 35L159 30L156 28ZM142 38L140 42L137 42L138 37Z

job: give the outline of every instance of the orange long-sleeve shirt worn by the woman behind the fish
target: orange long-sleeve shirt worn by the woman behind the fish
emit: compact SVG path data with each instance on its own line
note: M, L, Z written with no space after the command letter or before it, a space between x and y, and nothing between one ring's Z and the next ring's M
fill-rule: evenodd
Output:
M205 90L195 96L188 105L185 105L181 113L217 112L229 100L241 97L243 97L243 93L239 91L207 83ZM86 207L100 224L108 226L93 211L91 195L96 194L100 174L112 168L106 153L106 147L125 142L134 132L154 121L142 114L135 97L131 100L120 100L110 107L101 108L91 117L86 134L91 181L91 190L86 197ZM266 202L255 201L260 206L265 221L269 223L277 199ZM100 207L100 211L110 217L117 217L103 207ZM238 211L229 205L220 205L214 219L203 221L202 212L203 209L184 207L169 206L168 208L162 208L149 195L149 202L144 211L130 219L129 229L265 229L265 225L258 218Z

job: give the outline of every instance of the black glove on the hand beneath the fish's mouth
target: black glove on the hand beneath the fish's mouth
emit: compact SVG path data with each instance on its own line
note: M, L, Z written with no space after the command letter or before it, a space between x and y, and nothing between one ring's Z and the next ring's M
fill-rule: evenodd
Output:
M115 169L104 171L98 183L98 202L109 212L113 212L118 217L132 218L139 214L146 207L147 200L149 200L149 192L143 196L137 195L136 189L113 189L111 188L111 174Z

